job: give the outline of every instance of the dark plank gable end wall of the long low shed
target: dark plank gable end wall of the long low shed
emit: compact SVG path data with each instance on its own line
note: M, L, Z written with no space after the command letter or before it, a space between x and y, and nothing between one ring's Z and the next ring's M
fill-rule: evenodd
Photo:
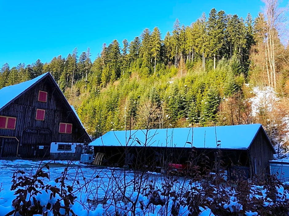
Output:
M259 130L249 147L249 154L251 157L252 174L261 175L267 173L269 161L274 159L274 151L262 129Z

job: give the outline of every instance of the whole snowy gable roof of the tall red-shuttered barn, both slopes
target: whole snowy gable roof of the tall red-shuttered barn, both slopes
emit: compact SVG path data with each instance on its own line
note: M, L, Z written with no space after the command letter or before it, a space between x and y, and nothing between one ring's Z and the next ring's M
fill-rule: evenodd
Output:
M67 107L67 109L69 109L75 119L77 120L77 122L79 122L79 124L81 125L81 127L83 128L85 135L87 135L87 137L89 138L89 140L91 141L91 138L89 137L89 135L87 134L79 116L77 115L75 109L73 106L70 106L70 104L68 103L66 97L64 96L64 94L62 93L61 89L59 88L59 86L57 85L56 81L54 80L54 78L52 77L52 75L47 72L45 74L42 74L32 80L28 80L16 85L10 85L10 86L6 86L2 89L0 89L0 111L2 109L4 109L6 106L8 106L9 104L11 104L14 100L16 100L18 97L20 97L22 94L24 94L25 92L27 92L29 89L31 89L34 85L36 85L37 83L39 83L40 81L42 81L43 79L49 77L52 81L52 85L55 86L55 88L58 91L58 94L60 97L62 97L62 101L64 103L64 105Z

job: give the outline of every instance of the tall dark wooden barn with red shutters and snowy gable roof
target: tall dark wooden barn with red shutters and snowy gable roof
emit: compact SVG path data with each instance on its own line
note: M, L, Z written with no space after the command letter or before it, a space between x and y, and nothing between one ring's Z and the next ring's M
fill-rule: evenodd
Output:
M91 139L49 72L0 89L0 158L47 158L59 142Z

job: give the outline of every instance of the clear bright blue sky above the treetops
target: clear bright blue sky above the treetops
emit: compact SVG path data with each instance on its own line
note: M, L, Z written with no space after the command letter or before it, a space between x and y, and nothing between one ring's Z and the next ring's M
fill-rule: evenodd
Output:
M260 0L0 0L0 66L27 65L37 59L50 62L54 56L67 57L75 47L78 55L90 47L93 61L103 43L130 42L145 28L152 31L157 26L164 37L176 18L190 25L212 8L243 18L251 13L255 18L263 5Z

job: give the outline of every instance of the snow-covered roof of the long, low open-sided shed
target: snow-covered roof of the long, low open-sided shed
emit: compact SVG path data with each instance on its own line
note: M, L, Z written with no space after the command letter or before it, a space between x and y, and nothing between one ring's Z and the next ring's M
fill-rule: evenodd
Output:
M146 145L151 147L189 148L192 143L196 148L213 149L217 147L218 143L222 149L247 149L260 128L263 130L261 124L247 124L216 127L166 128L148 131L109 131L95 139L89 146ZM145 140L147 140L146 143Z

